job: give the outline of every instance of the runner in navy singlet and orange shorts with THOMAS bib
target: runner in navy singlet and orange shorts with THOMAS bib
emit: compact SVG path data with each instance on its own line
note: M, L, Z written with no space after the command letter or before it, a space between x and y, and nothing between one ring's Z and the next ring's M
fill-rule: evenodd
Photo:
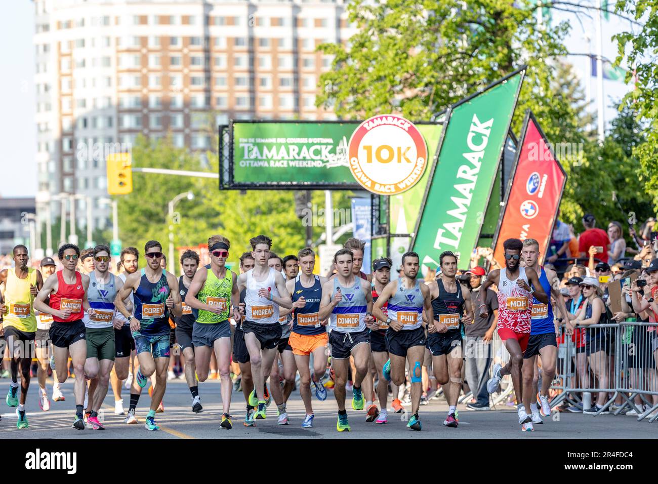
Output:
M324 402L327 390L322 385L322 377L327 367L326 346L329 338L326 333L327 321L320 321L320 299L322 286L326 277L313 274L315 268L315 252L309 247L303 248L297 254L301 274L290 277L286 289L292 295L293 327L290 333L290 346L299 368L299 394L304 402L306 416L301 423L303 428L313 427L313 405L311 404L311 381L315 386L315 396ZM287 257L286 257L287 258ZM288 265L288 262L286 262ZM288 273L288 267L286 267ZM291 272L290 272L291 275ZM309 363L313 354L313 374Z

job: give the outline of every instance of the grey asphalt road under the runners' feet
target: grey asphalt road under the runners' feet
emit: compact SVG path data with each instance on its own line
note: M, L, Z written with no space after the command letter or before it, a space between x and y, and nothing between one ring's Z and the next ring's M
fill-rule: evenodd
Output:
M233 393L231 412L234 417L234 428L223 430L219 427L222 408L220 406L220 385L218 381L207 381L199 385L201 402L204 411L193 414L190 409L190 391L184 380L172 380L167 384L164 394L165 412L157 414L156 422L161 426L159 432L149 432L143 427L143 419L148 411L150 398L146 391L139 400L137 416L138 425L126 425L124 416L114 416L114 398L109 391L103 404L105 413L103 421L105 431L92 431L86 429L78 431L71 428L74 416L73 382L71 379L64 383L62 389L66 400L52 402L48 412L42 412L38 405L38 384L32 380L26 408L30 422L28 429L16 428L16 414L14 408L5 404L4 396L9 389L9 380L0 381L0 439L299 439L319 437L326 439L382 439L404 438L411 434L415 439L441 438L441 439L655 439L658 436L658 422L642 422L633 417L626 416L588 416L582 414L556 413L545 417L543 425L535 425L533 433L522 433L517 423L517 412L512 408L499 408L490 412L473 412L465 406L458 407L459 428L449 429L443 427L447 405L441 397L431 400L427 406L420 407L420 421L422 431L412 431L405 427L406 421L400 414L389 414L387 424L367 423L365 411L351 410L349 401L351 393L347 393L347 411L352 431L338 433L336 431L336 400L332 390L326 401L318 402L313 396L315 421L312 429L302 429L301 421L304 417L304 408L298 391L291 394L288 402L288 416L290 425L276 424L276 407L274 402L268 408L267 419L257 421L255 427L243 427L242 420L245 413L243 396ZM48 381L49 396L52 392L52 380ZM127 410L130 396L123 390L124 406ZM409 407L405 407L410 410Z

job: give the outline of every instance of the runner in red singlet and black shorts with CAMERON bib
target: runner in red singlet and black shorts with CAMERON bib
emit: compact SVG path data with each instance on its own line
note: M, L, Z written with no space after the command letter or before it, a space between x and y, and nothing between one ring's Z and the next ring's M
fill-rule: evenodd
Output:
M93 309L87 300L89 276L76 271L80 249L74 244L64 244L57 251L62 263L62 270L46 279L34 300L34 308L40 313L53 315L49 339L53 342L55 352L55 369L57 380L64 383L68 378L68 355L73 362L76 379L73 392L76 397L76 417L73 428L84 430L82 414L85 379L84 363L87 359L87 342L85 325L82 321L84 312L93 315ZM45 300L49 299L48 304Z

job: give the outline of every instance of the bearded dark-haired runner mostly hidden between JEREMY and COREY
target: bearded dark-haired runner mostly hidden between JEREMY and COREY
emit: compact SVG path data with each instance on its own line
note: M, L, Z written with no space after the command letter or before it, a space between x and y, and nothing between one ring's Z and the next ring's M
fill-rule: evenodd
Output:
M121 251L120 255L120 268L123 272L119 274L119 279L126 283L126 278L133 273L137 272L139 263L139 252L134 247L126 247ZM134 309L134 298L132 292L126 302L124 302L126 309L132 311ZM114 312L114 346L116 348L116 356L114 358L114 368L111 373L111 384L114 392L114 415L123 415L123 398L121 398L121 383L128 380L132 383L132 373L130 372L131 354L135 350L135 340L132 338L130 331L130 323L126 318L117 310ZM126 389L130 389L127 384ZM125 423L137 423L134 414L128 414Z

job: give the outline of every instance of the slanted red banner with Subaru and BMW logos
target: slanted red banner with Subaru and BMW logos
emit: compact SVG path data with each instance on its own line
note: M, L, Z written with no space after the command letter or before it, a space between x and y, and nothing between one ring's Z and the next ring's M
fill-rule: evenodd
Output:
M542 255L546 254L567 183L567 174L529 110L515 167L493 246L493 257L500 265L505 263L503 242L508 238L534 238Z

